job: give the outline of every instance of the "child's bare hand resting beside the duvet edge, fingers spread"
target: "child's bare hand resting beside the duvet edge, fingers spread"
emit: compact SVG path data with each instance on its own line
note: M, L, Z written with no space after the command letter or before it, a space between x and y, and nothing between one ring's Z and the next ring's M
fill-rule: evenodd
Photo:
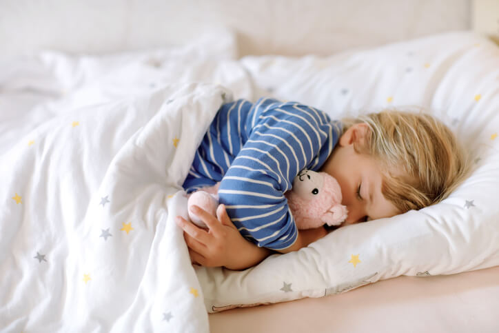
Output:
M208 230L198 228L192 222L176 216L176 223L184 230L185 243L189 248L192 263L232 270L249 267L244 263L244 254L254 252L255 245L249 243L230 221L224 205L218 205L216 215L194 205L193 213L206 223Z

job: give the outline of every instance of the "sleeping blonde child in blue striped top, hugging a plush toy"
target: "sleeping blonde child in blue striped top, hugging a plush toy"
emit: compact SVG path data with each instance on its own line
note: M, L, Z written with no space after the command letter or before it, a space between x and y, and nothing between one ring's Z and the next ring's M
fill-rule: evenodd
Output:
M190 193L220 181L217 216L193 208L208 230L176 217L192 262L241 270L325 236L323 227L298 230L284 196L303 169L336 178L348 225L438 203L467 163L454 134L428 114L385 111L340 122L296 102L227 103L183 183Z

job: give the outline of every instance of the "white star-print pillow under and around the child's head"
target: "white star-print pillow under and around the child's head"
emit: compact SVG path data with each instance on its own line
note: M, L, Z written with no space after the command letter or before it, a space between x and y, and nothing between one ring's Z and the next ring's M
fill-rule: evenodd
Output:
M403 274L454 274L499 265L496 45L466 32L329 58L241 62L259 93L314 105L336 119L423 107L462 139L473 170L437 205L340 228L243 272L196 267L209 312L326 296Z

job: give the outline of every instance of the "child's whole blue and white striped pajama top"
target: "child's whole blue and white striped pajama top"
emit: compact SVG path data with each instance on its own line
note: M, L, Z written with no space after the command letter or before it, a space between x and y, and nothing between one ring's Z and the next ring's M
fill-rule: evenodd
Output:
M239 99L218 110L183 183L193 192L221 181L220 203L239 232L258 246L283 250L298 236L284 193L303 169L318 170L342 125L296 102Z

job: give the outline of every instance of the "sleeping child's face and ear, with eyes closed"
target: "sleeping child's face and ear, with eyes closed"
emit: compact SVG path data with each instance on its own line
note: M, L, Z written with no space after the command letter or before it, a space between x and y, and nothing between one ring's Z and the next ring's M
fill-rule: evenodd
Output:
M368 132L364 123L349 128L320 170L334 176L341 186L342 204L348 209L343 225L398 214L395 205L381 192L382 172L378 162L354 150L354 143L363 143Z

